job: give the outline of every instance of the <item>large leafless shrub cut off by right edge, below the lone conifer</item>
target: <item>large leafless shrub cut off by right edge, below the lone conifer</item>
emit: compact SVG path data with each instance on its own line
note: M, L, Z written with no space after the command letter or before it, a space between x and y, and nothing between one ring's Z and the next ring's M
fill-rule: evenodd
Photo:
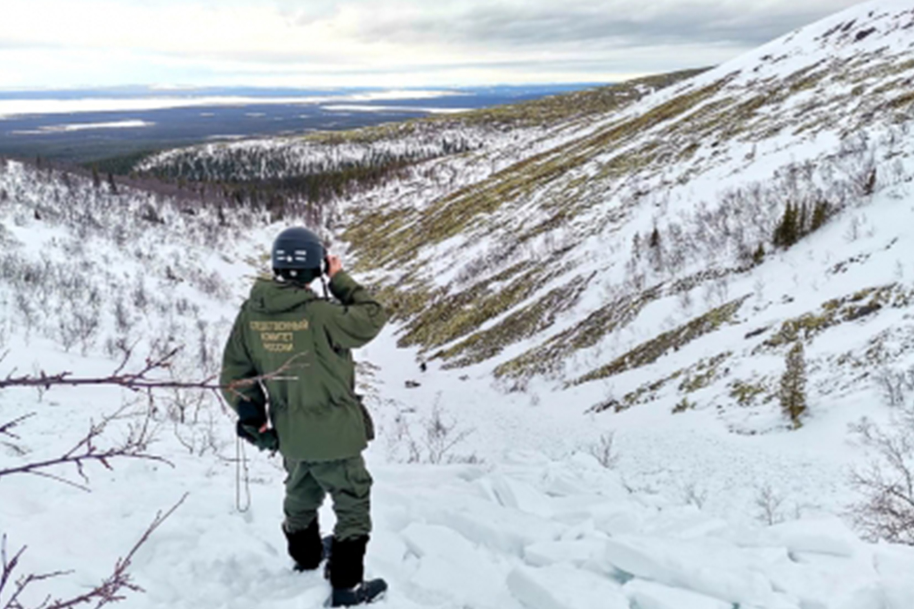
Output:
M872 454L851 473L862 496L850 507L857 528L871 541L914 545L914 408L895 416L890 431L866 418L851 431Z

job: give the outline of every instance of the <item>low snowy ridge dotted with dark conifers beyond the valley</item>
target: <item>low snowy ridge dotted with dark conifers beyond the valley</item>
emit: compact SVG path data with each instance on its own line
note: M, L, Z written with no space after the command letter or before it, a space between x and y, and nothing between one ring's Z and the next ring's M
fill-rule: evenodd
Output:
M587 132L591 122L600 120L600 109L630 105L700 71L686 70L515 106L472 110L453 118L175 149L143 160L135 171L170 179L257 182L445 156L454 163L446 172L446 182L455 189L566 141L566 131ZM497 166L488 173L464 173L462 163L467 159ZM420 168L412 175L418 177L428 169ZM439 176L424 179L435 183L441 180Z

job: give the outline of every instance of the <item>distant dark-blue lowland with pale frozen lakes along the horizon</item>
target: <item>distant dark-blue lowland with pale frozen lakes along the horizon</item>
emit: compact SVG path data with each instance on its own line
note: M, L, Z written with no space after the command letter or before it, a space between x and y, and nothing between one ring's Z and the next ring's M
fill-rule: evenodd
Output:
M0 91L0 155L86 163L197 142L349 130L593 86Z

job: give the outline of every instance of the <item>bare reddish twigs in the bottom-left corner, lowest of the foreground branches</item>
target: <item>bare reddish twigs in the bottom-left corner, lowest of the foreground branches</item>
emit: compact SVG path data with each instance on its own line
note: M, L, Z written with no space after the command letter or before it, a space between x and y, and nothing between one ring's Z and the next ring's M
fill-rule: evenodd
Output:
M136 552L143 547L143 544L146 541L149 541L149 538L154 531L158 529L165 520L168 520L168 518L175 513L175 510L185 502L185 499L187 499L186 493L171 509L168 509L165 513L159 511L155 515L152 524L143 532L139 541L133 544L133 548L127 552L125 557L118 559L114 564L112 574L95 588L92 588L87 593L66 600L56 599L52 601L50 595L48 595L44 602L29 608L22 604L20 600L22 593L26 591L28 586L67 575L70 572L29 573L28 575L19 577L16 579L16 582L13 583L13 574L19 564L19 560L27 550L27 546L20 548L19 551L13 555L12 559L7 559L6 536L4 535L2 546L0 546L0 555L2 555L2 565L0 565L0 567L2 567L2 572L0 572L0 603L3 603L3 594L6 586L12 583L14 589L10 597L6 599L5 604L2 605L2 609L69 609L69 607L77 607L83 604L91 604L98 609L106 604L118 603L124 600L126 598L126 592L144 592L143 588L136 583L133 583L133 578L128 571L133 562L133 557L136 555Z

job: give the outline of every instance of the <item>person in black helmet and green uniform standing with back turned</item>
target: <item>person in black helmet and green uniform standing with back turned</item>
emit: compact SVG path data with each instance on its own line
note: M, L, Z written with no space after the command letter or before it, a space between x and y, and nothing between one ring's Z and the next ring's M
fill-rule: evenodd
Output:
M277 236L272 268L273 278L258 279L241 306L219 384L239 415L239 436L282 455L282 531L296 569L316 569L329 554L331 605L366 603L387 584L364 581L372 478L362 451L374 428L355 392L351 350L375 338L387 314L306 228ZM310 289L323 274L337 301ZM336 526L324 548L317 509L327 493Z

